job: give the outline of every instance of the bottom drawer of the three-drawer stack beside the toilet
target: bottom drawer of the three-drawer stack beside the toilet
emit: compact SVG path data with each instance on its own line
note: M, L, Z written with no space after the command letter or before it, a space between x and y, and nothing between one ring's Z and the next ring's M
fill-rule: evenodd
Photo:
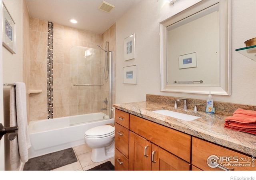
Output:
M115 170L128 170L129 160L115 148Z

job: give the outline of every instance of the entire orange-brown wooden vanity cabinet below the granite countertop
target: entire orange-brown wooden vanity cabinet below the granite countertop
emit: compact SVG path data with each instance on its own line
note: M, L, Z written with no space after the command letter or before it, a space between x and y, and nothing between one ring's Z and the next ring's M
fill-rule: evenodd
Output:
M133 114L115 109L115 122L115 170L256 170L254 156Z

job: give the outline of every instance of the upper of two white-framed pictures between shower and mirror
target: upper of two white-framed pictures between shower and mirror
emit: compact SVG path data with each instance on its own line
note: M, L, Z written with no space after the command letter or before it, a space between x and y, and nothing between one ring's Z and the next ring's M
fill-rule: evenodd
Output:
M135 34L124 39L124 60L135 59Z

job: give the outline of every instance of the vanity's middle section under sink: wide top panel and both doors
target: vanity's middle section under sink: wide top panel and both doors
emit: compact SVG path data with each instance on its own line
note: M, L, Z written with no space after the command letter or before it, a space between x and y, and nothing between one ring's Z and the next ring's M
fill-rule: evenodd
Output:
M190 135L130 114L129 170L190 170L190 149Z

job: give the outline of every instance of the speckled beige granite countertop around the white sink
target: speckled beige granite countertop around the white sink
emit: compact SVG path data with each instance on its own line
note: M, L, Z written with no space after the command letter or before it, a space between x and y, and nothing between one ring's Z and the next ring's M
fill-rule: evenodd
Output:
M224 128L226 115L207 114L202 111L193 112L190 109L183 110L182 108L173 108L165 104L150 101L114 104L113 107L245 154L256 155L256 135ZM152 110L160 109L200 116L200 118L185 121L151 112Z

